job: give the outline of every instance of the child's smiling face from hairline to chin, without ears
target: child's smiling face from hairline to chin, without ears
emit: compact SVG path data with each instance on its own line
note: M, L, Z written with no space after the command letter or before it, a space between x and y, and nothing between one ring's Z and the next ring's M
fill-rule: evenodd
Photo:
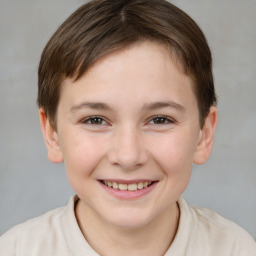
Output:
M192 82L167 49L135 44L62 86L50 159L64 159L78 214L140 227L177 207L202 134Z

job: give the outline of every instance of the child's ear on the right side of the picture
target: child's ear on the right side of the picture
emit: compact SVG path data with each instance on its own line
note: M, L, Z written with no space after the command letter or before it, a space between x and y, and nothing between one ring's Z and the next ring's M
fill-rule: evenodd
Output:
M203 164L209 158L213 145L214 132L217 126L218 112L215 106L210 108L203 128L200 130L199 140L194 154L194 163Z

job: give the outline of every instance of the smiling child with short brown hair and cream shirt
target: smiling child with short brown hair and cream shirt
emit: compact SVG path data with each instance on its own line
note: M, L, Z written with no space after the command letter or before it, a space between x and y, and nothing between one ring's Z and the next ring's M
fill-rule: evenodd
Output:
M46 45L41 127L76 192L9 230L0 255L255 256L240 227L181 198L217 124L212 60L191 18L164 0L96 0Z

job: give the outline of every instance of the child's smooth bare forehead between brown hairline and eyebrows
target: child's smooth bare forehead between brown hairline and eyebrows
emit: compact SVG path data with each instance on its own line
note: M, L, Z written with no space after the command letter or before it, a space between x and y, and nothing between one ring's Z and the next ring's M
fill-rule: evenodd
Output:
M66 79L60 101L86 98L130 104L137 99L145 104L170 97L195 100L192 81L166 46L144 41L100 58L77 81Z

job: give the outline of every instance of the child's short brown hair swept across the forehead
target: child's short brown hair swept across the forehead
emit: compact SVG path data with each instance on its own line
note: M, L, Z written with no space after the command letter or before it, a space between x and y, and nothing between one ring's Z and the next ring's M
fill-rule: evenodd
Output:
M198 25L165 0L94 0L77 9L54 33L41 56L37 103L56 127L65 78L79 79L99 58L140 40L168 46L194 82L200 125L216 104L212 57Z

